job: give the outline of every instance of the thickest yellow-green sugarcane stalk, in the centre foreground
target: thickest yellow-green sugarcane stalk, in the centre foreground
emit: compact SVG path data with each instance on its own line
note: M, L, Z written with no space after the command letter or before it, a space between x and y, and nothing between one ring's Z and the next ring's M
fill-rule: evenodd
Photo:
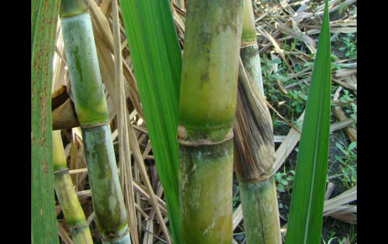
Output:
M242 0L187 2L179 101L181 243L232 242Z

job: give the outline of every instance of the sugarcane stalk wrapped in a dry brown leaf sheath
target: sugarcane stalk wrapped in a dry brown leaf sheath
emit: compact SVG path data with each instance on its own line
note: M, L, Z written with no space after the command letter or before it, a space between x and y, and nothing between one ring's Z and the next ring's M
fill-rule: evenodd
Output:
M234 142L246 242L279 244L282 238L273 175L274 134L264 100L251 0L244 0L240 56Z

